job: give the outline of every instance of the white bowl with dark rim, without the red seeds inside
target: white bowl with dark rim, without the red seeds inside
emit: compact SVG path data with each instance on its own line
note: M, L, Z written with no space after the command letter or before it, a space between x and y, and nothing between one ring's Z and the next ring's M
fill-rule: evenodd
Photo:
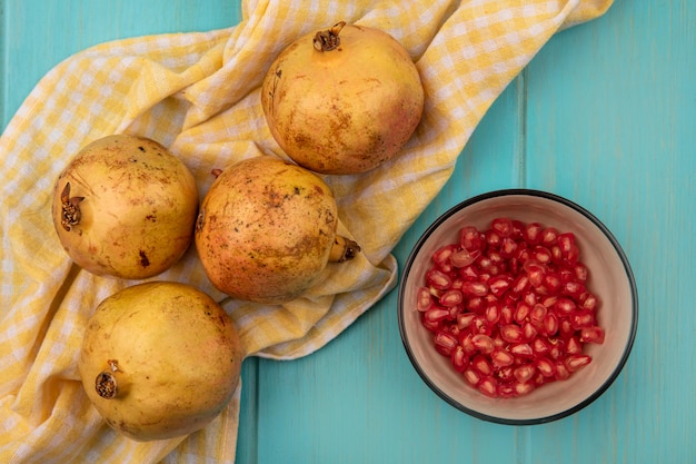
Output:
M464 226L485 230L496 217L537 221L571 231L590 272L588 288L599 298L604 344L585 344L593 362L566 381L545 384L526 396L491 398L467 385L449 358L438 354L432 333L416 309L417 290L431 256L458 243ZM475 417L509 425L540 424L574 414L599 397L616 379L630 353L638 322L638 299L626 255L612 233L589 211L538 190L499 190L470 198L440 216L420 237L405 265L398 296L401 339L422 381L443 399Z

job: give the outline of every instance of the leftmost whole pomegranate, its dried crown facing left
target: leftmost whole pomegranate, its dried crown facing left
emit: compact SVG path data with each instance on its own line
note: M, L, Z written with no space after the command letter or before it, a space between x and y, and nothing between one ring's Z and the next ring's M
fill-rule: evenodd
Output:
M53 225L70 258L100 276L143 279L193 238L198 189L155 140L113 135L83 147L56 181Z

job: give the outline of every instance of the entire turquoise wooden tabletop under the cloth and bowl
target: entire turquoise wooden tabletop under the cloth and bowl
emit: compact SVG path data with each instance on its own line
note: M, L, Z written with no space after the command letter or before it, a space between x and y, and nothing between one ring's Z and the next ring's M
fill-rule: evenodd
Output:
M0 128L83 48L239 18L230 0L0 0ZM640 299L632 357L608 392L547 425L469 417L409 365L392 292L311 356L245 362L238 462L696 462L695 33L696 2L618 0L553 38L395 249L402 264L431 220L487 190L539 188L587 207L623 245Z

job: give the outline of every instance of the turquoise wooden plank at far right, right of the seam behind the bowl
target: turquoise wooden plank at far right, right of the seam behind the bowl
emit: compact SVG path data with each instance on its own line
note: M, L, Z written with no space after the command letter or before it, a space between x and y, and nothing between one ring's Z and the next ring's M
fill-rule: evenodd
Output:
M529 66L527 182L613 230L640 300L625 372L576 416L531 430L530 462L696 458L695 26L694 2L618 1Z

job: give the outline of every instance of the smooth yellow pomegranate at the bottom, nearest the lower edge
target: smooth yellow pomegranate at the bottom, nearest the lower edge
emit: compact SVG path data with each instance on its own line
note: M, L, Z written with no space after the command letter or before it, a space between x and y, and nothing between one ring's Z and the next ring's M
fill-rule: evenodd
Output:
M150 282L99 304L78 368L88 398L112 428L152 441L212 421L237 388L243 355L231 318L210 296Z

